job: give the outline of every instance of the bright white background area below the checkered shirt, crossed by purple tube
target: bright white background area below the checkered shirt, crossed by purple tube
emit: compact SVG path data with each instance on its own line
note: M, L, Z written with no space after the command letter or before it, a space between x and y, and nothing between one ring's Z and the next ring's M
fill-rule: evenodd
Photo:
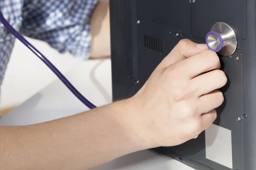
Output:
M47 43L27 38L62 73L69 71L81 59L60 54ZM1 86L0 109L17 106L40 91L57 77L19 40L16 40L6 75Z

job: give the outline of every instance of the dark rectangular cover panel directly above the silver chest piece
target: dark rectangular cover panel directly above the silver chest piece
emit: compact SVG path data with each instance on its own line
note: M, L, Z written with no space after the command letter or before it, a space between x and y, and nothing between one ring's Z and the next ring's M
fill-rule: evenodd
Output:
M204 39L217 22L232 26L239 40L246 39L245 0L196 0L191 5L192 36Z

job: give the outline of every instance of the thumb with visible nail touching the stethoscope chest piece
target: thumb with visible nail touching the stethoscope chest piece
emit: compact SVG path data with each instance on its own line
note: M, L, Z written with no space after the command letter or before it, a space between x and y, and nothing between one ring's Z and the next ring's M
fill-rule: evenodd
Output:
M188 39L180 40L172 51L157 66L157 69L166 68L175 62L192 57L206 50L209 50L206 44L197 44Z

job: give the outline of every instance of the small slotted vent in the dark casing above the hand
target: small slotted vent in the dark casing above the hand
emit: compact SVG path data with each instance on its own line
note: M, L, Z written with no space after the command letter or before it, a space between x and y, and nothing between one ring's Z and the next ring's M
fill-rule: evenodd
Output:
M163 54L162 40L144 34L144 48Z

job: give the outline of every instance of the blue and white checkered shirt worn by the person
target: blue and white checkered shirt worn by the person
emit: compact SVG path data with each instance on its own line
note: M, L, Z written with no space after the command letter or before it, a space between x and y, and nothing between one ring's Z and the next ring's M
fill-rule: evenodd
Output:
M43 40L60 53L69 52L87 59L90 55L90 14L98 1L0 0L0 10L21 34ZM0 85L14 42L15 37L0 23Z

